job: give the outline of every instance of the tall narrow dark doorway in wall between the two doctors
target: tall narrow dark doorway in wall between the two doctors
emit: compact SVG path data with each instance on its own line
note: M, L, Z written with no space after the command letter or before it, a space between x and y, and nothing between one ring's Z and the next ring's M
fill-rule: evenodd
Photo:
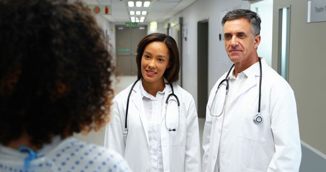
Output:
M208 20L199 21L197 27L198 118L205 118L208 101Z

